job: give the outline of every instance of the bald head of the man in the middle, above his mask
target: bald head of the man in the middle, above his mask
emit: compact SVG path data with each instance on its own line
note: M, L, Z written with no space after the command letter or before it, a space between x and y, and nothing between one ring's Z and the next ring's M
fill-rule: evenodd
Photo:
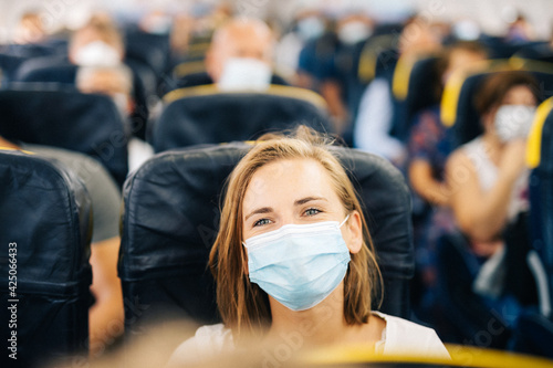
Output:
M206 69L213 82L218 82L225 63L232 57L255 59L271 63L273 33L257 19L233 19L219 28L206 55Z

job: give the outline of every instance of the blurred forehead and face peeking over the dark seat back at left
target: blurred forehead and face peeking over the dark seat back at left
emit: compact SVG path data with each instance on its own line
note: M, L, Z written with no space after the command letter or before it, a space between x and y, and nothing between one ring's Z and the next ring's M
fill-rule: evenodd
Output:
M76 74L76 87L82 93L108 95L122 117L127 117L133 112L133 73L123 64L81 66Z

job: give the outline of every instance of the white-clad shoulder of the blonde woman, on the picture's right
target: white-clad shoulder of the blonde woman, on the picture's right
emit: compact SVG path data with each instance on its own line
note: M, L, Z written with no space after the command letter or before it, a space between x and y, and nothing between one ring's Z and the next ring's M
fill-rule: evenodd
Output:
M444 343L432 328L379 312L374 314L386 320L384 354L450 358Z

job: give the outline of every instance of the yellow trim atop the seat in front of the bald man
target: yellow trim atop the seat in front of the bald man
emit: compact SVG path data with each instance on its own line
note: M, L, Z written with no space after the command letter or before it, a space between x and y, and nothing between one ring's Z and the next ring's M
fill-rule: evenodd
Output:
M252 91L243 91L243 93L250 93L250 92L252 92ZM171 103L176 99L184 98L184 97L190 97L190 96L208 96L208 95L216 95L216 94L236 94L236 93L242 93L242 92L241 91L222 92L219 88L217 88L216 84L207 84L207 85L200 85L200 86L196 86L196 87L186 87L186 88L179 88L179 90L171 91L164 96L164 102L166 104L168 104L168 103ZM258 92L253 92L253 93L258 93ZM303 99L303 101L312 103L313 105L315 105L319 108L326 109L326 102L324 101L324 98L311 90L291 87L291 86L286 86L286 85L271 84L271 86L267 91L262 91L259 93L273 95L273 96L283 96L283 97L292 97L292 98Z

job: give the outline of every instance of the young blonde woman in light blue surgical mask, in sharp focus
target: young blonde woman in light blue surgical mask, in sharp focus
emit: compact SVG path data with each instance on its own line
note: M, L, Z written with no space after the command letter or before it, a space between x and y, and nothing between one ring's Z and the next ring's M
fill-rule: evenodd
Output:
M300 348L449 357L432 329L371 311L380 273L359 202L307 128L257 144L237 165L209 265L223 323L199 328L173 364L286 336Z

